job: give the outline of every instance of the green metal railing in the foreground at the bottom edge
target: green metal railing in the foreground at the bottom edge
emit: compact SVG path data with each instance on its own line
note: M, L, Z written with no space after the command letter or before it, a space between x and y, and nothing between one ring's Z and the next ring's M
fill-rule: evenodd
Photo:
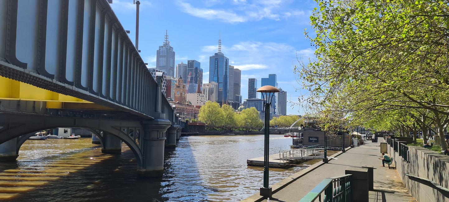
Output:
M351 202L351 176L351 174L348 174L326 178L299 202L313 202L317 199L319 202Z

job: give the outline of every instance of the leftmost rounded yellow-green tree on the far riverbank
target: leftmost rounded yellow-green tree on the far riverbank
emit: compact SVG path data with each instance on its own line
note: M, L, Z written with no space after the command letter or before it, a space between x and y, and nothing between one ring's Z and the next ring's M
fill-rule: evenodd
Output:
M225 113L217 102L207 101L201 106L198 119L210 127L220 127L225 123Z

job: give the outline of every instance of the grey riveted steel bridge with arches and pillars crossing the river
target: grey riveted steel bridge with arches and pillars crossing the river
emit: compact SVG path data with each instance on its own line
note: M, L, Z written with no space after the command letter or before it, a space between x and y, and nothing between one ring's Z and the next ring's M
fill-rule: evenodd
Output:
M143 173L162 173L179 119L107 0L0 1L0 157L19 136L83 127L104 152L122 141ZM14 158L15 159L15 158Z

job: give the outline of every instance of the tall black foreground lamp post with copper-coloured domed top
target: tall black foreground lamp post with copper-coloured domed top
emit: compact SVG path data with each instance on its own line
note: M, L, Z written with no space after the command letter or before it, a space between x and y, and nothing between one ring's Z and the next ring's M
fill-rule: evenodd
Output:
M265 141L264 141L264 187L260 188L260 195L266 198L271 197L271 187L268 184L269 177L269 137L270 137L270 105L273 100L274 93L279 92L279 89L273 86L262 86L256 92L262 94L265 106Z

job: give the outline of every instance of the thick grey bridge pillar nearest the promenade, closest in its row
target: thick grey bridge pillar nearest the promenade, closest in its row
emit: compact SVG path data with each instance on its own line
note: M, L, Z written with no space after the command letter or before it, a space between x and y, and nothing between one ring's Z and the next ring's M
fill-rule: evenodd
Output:
M138 171L144 176L163 176L164 169L164 149L165 132L170 127L168 120L156 119L154 121L144 121L143 141L143 163Z

